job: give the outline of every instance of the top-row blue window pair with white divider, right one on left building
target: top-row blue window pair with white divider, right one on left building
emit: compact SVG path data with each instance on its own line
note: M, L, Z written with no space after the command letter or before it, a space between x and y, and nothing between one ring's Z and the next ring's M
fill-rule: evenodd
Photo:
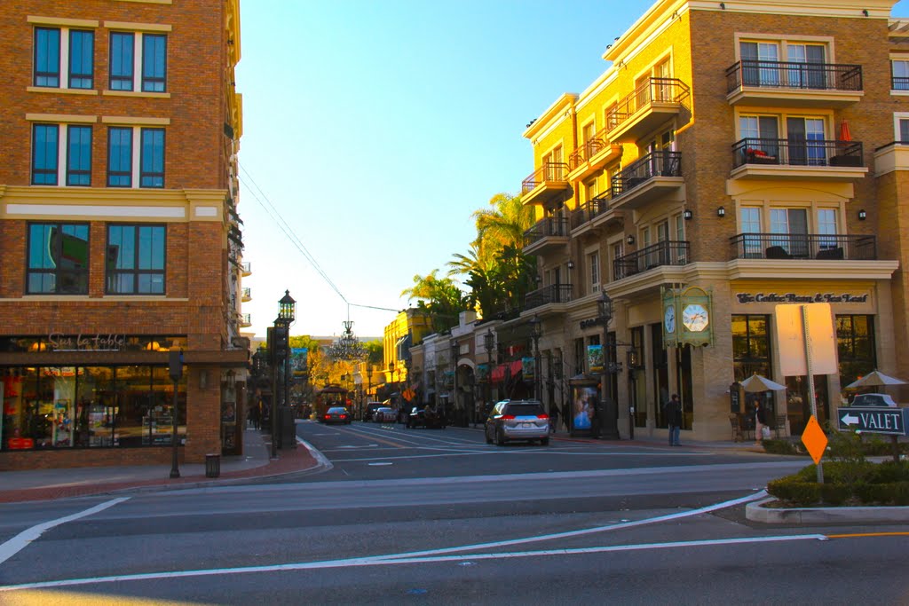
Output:
M112 91L164 93L167 90L167 36L112 32L109 86Z

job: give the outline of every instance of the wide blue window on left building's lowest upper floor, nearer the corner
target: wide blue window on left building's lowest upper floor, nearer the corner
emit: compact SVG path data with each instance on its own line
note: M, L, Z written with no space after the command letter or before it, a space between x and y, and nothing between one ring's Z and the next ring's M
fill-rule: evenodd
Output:
M107 226L107 293L164 294L164 225Z

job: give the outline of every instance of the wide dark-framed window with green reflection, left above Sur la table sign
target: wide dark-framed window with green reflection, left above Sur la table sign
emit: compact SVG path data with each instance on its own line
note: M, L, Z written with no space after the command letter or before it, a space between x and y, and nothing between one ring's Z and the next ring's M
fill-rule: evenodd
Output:
M88 293L88 225L29 224L29 294Z

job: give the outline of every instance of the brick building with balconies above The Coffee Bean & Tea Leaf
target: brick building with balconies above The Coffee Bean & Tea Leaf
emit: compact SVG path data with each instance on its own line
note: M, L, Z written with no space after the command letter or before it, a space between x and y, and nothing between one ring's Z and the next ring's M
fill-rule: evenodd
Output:
M810 390L783 372L779 303L830 303L820 422L858 376L909 377L909 23L894 4L659 0L601 77L528 125L541 287L512 323L542 323L544 399L577 402L605 338L622 437L665 434L673 392L683 439L749 429L755 400L798 434ZM739 392L753 373L786 390Z

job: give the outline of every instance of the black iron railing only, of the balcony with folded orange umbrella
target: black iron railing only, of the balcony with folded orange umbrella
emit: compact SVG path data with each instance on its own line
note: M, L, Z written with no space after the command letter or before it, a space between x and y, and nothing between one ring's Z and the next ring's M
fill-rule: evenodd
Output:
M862 166L858 141L757 139L748 137L733 144L734 167L743 164L787 166Z

